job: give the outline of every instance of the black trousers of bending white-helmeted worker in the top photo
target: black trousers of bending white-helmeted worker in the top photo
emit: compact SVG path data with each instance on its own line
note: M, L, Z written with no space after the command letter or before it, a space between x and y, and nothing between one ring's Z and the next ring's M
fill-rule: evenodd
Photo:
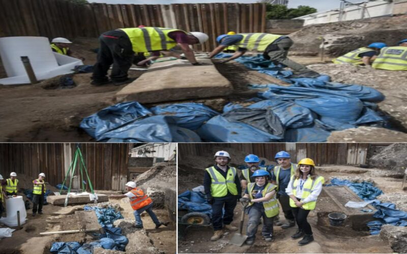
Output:
M133 63L134 52L129 37L124 31L107 31L99 37L100 49L97 62L93 66L92 79L96 82L107 81L110 66L110 79L123 81Z

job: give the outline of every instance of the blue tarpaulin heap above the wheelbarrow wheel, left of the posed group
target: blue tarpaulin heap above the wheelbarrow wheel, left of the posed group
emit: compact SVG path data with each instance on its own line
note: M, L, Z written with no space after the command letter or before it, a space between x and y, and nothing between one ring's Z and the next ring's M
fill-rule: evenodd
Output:
M178 209L188 210L188 212L201 212L212 217L212 206L208 203L205 195L200 192L187 190L178 195Z

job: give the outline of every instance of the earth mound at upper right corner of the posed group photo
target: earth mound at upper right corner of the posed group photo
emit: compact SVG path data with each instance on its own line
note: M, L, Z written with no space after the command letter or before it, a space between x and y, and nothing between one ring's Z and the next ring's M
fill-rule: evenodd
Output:
M383 149L379 154L369 159L369 165L374 168L382 169L404 169L407 165L407 144L394 143Z

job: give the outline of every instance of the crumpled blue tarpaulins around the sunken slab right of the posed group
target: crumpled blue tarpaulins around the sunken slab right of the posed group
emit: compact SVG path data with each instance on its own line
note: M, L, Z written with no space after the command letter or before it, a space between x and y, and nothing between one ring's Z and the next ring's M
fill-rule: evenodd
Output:
M393 203L381 203L375 198L383 194L382 190L374 187L370 182L351 182L348 180L340 180L333 178L329 185L346 185L355 192L359 198L369 201L374 200L373 205L377 211L373 214L373 217L379 218L379 220L373 220L367 223L371 235L377 235L380 233L382 225L390 224L393 226L407 227L407 212L396 209L396 205Z

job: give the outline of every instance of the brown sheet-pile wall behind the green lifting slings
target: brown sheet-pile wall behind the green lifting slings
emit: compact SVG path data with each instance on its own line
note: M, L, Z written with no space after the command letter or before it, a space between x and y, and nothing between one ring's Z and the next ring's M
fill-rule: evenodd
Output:
M95 189L124 189L129 173L129 144L83 143L80 149ZM17 179L19 174L24 174L34 180L39 173L45 173L45 181L55 186L64 181L75 151L74 143L1 143L0 174L6 179L11 172L16 172ZM75 172L78 175L78 168ZM73 184L77 185L77 181Z

